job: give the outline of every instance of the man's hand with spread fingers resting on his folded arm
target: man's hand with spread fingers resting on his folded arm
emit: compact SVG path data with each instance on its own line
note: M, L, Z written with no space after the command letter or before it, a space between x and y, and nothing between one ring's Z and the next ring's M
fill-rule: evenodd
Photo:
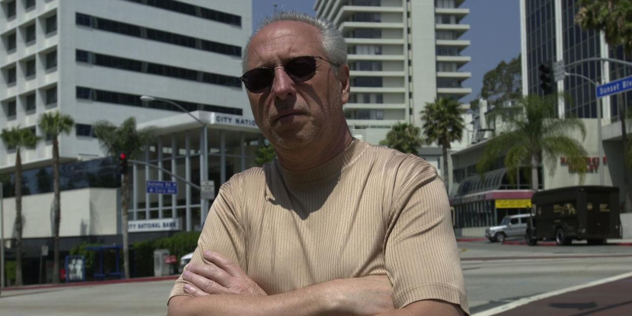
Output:
M267 296L255 281L231 260L217 252L202 253L209 264L188 264L182 277L193 284L185 292L193 297L212 294Z

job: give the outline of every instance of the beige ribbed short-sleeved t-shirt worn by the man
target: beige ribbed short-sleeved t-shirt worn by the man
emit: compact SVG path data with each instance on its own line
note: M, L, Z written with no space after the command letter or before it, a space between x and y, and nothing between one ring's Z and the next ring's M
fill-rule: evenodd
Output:
M331 161L289 171L277 161L219 190L191 263L212 250L269 295L387 274L396 308L438 299L469 313L446 189L415 155L355 140ZM182 277L171 297L186 295Z

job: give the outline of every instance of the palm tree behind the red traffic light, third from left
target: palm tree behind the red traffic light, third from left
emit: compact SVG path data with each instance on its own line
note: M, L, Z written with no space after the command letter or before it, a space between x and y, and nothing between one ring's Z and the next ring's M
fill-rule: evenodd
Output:
M108 121L97 121L94 123L94 135L99 139L99 145L108 155L118 155L125 152L128 159L137 159L142 154L143 147L154 141L157 128L147 127L142 130L136 129L136 119L130 117L115 126ZM130 278L130 248L128 243L128 210L130 207L131 177L128 171L123 174L121 181L121 191L123 199L121 210L123 212L123 270L125 278Z

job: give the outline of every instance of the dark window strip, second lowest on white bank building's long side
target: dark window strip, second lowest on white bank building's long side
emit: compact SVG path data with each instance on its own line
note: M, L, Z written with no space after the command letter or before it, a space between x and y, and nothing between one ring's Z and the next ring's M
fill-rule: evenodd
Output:
M90 56L93 56L90 58ZM150 73L152 75L167 76L184 80L211 83L214 85L224 85L228 87L241 88L241 82L236 76L219 75L217 73L207 73L204 71L167 66L164 64L147 63L127 58L119 58L94 52L76 51L77 61L88 62L99 66L116 68L121 70L137 71L140 73Z

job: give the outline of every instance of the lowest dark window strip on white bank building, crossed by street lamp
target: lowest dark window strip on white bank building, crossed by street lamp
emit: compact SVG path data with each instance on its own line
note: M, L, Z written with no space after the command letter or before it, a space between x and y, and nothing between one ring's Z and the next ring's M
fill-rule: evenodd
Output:
M149 107L151 109L161 109L161 110L167 110L167 111L182 112L181 109L167 102L160 102L160 101L142 102L140 100L140 95L123 94L123 93L118 93L118 92L96 90L96 89L86 88L86 87L76 87L76 97L77 99L90 99L90 100L95 100L98 102L119 104L119 105L124 105L124 106ZM243 114L242 109L237 109L234 107L192 103L192 102L186 102L186 101L181 101L181 100L172 100L172 101L184 107L185 110L188 112L200 110L200 111L220 112L220 113L236 114L236 115Z

